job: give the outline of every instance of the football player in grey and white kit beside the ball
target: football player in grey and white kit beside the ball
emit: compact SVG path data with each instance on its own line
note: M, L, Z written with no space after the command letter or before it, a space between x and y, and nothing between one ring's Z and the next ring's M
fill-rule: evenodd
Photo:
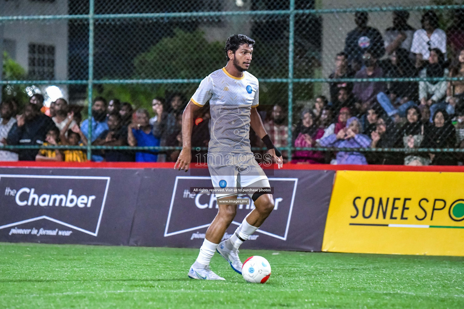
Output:
M200 254L188 272L194 279L225 280L209 268L214 252L224 257L234 271L241 274L242 262L238 247L264 222L274 209L269 181L256 162L250 148L250 126L263 139L269 153L282 167L282 154L274 147L264 130L256 110L259 98L258 79L247 72L251 63L254 40L242 34L230 36L226 41L227 65L206 76L190 99L182 115L182 151L174 169L188 170L191 155L193 114L210 102L212 120L211 139L208 145L208 170L216 192L218 214L206 231ZM238 226L228 240L221 239L232 223L237 211L236 204L227 200L237 198L234 189L245 188L255 208ZM225 189L232 189L232 193ZM220 242L220 243L219 243Z

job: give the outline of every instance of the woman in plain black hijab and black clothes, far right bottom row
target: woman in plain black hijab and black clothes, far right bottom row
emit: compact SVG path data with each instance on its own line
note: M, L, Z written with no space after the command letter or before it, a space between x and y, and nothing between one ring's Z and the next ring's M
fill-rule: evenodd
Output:
M425 135L421 147L424 148L454 148L456 145L456 131L448 114L439 109L433 114L433 126ZM453 153L430 153L433 165L456 165L458 160Z

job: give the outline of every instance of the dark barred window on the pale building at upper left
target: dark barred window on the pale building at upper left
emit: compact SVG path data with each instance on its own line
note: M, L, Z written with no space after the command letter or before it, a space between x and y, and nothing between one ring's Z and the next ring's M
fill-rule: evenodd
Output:
M55 46L29 44L29 77L38 80L55 78Z

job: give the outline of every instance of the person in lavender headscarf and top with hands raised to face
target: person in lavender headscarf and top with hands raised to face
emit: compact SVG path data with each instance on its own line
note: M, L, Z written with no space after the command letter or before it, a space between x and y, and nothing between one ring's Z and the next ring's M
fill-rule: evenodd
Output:
M322 147L337 148L367 148L371 145L371 139L364 134L360 134L361 123L358 118L351 117L347 120L346 127L337 134L319 140ZM336 156L337 164L357 164L366 165L366 157L357 151L339 151Z

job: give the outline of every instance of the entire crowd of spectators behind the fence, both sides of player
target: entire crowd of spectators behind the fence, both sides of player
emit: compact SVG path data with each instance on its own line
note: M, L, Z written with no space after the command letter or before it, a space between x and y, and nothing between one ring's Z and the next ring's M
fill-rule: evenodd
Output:
M464 82L438 81L437 77L464 77L464 10L455 14L454 25L439 28L438 16L427 11L421 29L408 24L407 11L394 11L392 26L384 36L368 25L366 12L354 15L355 29L334 59L329 97L321 95L304 106L289 132L285 104L259 107L266 132L274 145L287 147L335 147L343 151L296 150L296 164L406 164L451 165L464 158L458 153L423 152L417 148L464 148ZM448 48L448 50L447 50ZM426 81L340 82L343 78L427 77ZM181 146L182 111L187 98L174 93L155 97L152 111L129 102L97 97L90 120L82 107L60 98L43 107L35 94L19 110L14 100L0 104L1 145L42 145L43 149L0 151L1 161L37 160L84 162L83 149L53 149L54 145L126 146L92 151L95 162L174 162L179 150L154 151L146 146ZM151 117L152 116L152 117ZM206 162L211 116L208 107L195 116L192 131L193 158ZM89 139L91 132L91 139ZM251 130L251 146L264 147ZM140 148L133 148L140 147ZM362 151L359 148L403 148L404 151ZM352 150L351 150L352 149ZM287 151L282 151L288 162ZM194 159L195 160L195 159Z

